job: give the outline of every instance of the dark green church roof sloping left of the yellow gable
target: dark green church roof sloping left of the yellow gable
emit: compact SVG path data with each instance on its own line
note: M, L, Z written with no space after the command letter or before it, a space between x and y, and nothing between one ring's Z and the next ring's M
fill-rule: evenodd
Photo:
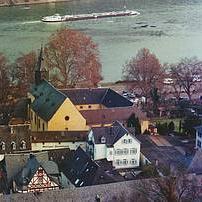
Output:
M35 97L31 108L45 121L49 121L66 96L53 87L46 80L42 80L40 84L34 84L31 87L31 94Z

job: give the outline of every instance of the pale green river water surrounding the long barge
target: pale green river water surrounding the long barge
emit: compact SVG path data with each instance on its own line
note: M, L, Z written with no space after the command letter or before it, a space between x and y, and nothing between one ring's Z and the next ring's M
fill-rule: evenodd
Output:
M48 24L42 16L123 10L136 17L105 18ZM22 53L40 48L61 27L90 35L98 44L104 81L121 79L122 67L141 48L149 48L162 63L182 57L202 59L201 0L73 0L0 8L0 52L13 62ZM143 25L143 27L142 27Z

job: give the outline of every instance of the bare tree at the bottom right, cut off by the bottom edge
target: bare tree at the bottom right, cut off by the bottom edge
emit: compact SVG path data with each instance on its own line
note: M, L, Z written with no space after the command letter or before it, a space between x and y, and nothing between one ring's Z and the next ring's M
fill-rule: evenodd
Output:
M148 201L194 201L197 196L197 186L193 179L184 174L142 180L139 191Z

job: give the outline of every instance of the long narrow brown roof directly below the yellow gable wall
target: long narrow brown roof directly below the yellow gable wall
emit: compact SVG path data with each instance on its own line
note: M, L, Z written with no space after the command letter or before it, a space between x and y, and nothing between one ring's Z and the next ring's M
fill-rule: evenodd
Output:
M41 131L32 132L32 142L69 142L85 141L87 131Z

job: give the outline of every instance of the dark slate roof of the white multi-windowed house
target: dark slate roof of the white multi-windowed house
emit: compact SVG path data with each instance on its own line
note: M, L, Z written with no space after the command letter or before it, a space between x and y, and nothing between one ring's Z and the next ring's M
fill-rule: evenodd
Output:
M112 146L121 137L129 133L118 121L114 122L112 126L92 128L92 131L95 144L106 144L107 146ZM102 137L105 137L106 142L101 142Z

